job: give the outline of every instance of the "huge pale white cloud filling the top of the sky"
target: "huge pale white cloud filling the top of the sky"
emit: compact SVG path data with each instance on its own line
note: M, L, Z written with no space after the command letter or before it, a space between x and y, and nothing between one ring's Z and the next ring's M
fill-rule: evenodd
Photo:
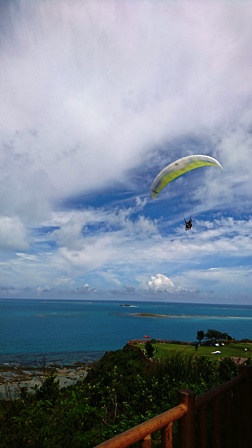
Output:
M196 132L239 171L225 154L251 147L247 2L18 3L2 19L4 212L35 219L55 197L127 182L157 145Z

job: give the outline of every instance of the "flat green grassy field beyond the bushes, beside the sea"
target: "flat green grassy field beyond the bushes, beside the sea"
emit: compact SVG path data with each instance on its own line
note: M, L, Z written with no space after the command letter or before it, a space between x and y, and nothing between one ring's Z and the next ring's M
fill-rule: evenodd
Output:
M137 344L138 347L144 349L144 343ZM172 343L152 343L154 347L154 357L162 358L164 356L169 356L175 352L181 353L194 353L195 355L205 355L211 358L249 358L252 357L252 344L251 343L241 343L241 342L231 342L225 343L225 345L220 346L205 346L201 345L198 349L195 349L194 345L188 344L172 344ZM220 354L214 354L212 352L220 351Z

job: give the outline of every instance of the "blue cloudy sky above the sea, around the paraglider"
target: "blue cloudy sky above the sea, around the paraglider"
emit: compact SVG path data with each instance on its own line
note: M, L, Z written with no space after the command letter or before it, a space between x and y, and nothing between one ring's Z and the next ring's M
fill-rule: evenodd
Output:
M246 0L0 0L0 297L252 305L251 23ZM191 154L223 172L153 200Z

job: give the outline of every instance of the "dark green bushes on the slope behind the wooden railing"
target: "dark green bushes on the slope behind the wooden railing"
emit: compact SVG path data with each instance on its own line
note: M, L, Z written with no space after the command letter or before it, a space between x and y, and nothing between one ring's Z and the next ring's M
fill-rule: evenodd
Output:
M74 386L60 388L51 371L33 393L21 389L20 398L2 399L0 447L92 448L175 406L179 389L200 394L238 373L231 358L195 348L157 354L149 360L127 345L106 353Z

